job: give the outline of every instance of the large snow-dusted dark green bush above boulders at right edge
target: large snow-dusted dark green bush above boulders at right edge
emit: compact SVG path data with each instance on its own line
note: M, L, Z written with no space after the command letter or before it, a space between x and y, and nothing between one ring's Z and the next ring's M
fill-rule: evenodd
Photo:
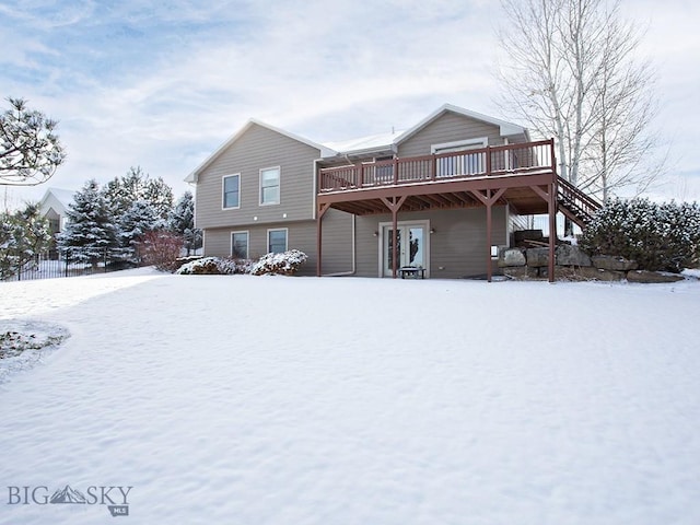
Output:
M610 200L586 226L580 245L590 255L635 260L643 270L695 268L700 262L700 206Z

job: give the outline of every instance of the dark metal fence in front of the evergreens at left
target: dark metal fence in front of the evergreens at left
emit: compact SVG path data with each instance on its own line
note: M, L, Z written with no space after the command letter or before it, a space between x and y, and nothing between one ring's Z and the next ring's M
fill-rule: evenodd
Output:
M138 259L136 259L138 260ZM70 250L48 250L35 255L30 260L5 269L3 280L25 281L33 279L50 279L57 277L89 276L108 271L124 270L139 266L133 259L125 259L109 249L91 249L89 252L71 248ZM8 271L9 270L9 271Z

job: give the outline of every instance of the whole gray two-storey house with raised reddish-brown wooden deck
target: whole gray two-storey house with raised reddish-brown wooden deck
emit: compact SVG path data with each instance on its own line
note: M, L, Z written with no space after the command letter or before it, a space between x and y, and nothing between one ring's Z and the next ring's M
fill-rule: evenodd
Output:
M318 276L490 279L524 217L548 213L556 232L557 211L586 211L553 141L448 104L400 133L325 144L252 119L186 180L205 255L298 248Z

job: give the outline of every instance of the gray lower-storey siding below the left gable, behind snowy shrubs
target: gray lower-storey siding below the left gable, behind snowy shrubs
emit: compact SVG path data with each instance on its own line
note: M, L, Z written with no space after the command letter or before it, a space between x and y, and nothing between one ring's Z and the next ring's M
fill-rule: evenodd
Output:
M352 215L329 210L323 224L323 272L338 273L352 269ZM267 254L267 232L285 228L289 249L301 249L308 256L300 275L316 275L316 221L277 222L207 229L205 231L205 255L231 256L231 233L248 232L248 256L257 259Z

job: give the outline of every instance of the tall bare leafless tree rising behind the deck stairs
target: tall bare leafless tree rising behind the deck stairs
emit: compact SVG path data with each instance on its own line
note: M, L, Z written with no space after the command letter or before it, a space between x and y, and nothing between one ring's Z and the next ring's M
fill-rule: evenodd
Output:
M641 192L665 158L650 129L654 74L635 60L640 33L621 20L619 1L502 0L501 106L538 135L555 137L559 174L607 199Z

